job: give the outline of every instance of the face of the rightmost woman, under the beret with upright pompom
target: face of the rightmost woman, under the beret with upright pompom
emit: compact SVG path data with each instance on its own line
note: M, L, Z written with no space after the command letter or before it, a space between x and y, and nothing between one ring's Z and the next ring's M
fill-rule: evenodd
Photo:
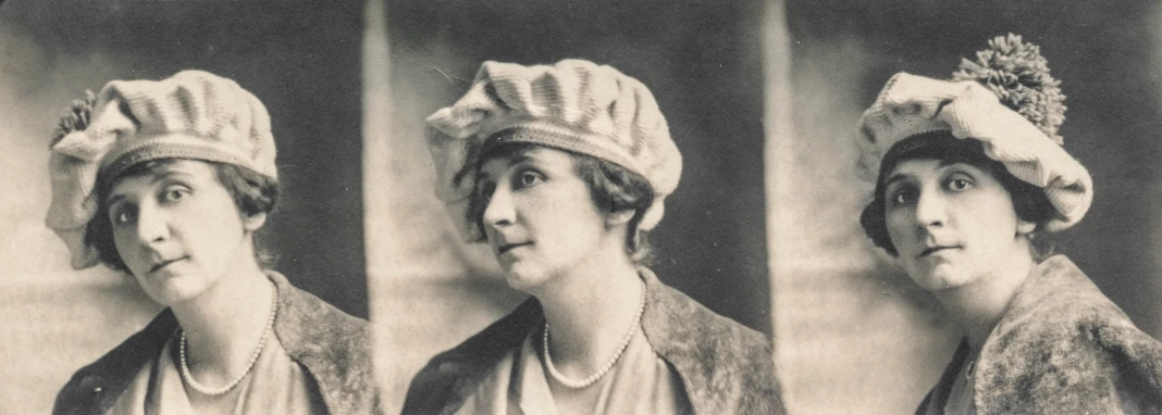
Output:
M1017 218L992 173L905 160L884 181L888 235L908 275L930 292L971 284L1025 253L1035 224Z

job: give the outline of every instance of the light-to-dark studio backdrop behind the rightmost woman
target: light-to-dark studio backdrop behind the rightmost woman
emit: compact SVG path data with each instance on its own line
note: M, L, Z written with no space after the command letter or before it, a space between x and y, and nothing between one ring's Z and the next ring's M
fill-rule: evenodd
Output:
M1093 204L1052 238L1145 332L1162 337L1162 3L772 1L784 6L794 114L774 257L775 343L792 413L913 412L962 338L957 322L858 225L854 128L896 72L948 79L1007 32L1041 48L1068 96L1060 133L1093 177ZM790 165L783 163L789 162ZM791 236L782 236L782 235ZM805 261L798 261L806 257Z

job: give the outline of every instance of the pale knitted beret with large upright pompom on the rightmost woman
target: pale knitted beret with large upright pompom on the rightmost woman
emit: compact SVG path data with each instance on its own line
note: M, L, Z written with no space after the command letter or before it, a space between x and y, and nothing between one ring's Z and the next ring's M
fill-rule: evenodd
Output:
M1089 172L1061 147L1064 96L1038 46L1009 35L989 42L978 63L963 60L953 80L897 73L860 119L860 165L868 177L897 143L934 131L982 141L984 154L1045 190L1056 214L1046 231L1068 228L1093 198ZM887 172L883 172L887 173ZM882 180L878 177L877 180Z

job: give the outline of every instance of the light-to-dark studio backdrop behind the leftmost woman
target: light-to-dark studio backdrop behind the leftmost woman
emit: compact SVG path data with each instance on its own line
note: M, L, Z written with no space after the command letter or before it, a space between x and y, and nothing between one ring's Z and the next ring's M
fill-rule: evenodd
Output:
M0 7L0 413L48 413L77 371L158 312L136 282L76 271L44 226L48 144L69 103L115 79L199 68L267 107L284 185L274 269L368 315L364 1L6 1Z

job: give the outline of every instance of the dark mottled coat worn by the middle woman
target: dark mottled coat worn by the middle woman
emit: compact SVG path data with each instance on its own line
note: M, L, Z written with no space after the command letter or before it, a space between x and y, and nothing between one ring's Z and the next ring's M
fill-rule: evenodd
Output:
M696 414L784 414L770 341L666 286L648 269L641 328L674 367ZM452 414L505 354L544 325L529 299L456 348L433 357L411 380L403 414Z

